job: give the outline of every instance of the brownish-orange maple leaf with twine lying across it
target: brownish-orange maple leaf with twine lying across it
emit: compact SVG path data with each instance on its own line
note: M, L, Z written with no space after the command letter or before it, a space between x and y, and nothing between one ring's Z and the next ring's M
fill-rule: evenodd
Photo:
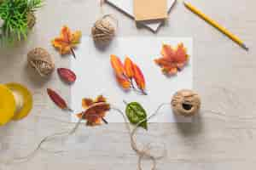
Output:
M102 95L98 96L95 100L89 98L82 99L82 106L85 111L77 114L77 116L80 119L86 120L86 125L101 125L102 121L108 123L104 116L110 110L110 105Z

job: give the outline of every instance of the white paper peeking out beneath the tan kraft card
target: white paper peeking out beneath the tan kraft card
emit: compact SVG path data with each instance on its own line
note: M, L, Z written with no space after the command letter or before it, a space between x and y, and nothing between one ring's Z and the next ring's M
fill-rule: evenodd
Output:
M115 8L118 8L120 11L128 14L131 18L134 19L133 14L133 0L106 0L107 3L112 5ZM174 5L176 0L167 0L168 13L171 12L171 8ZM164 21L154 21L151 23L140 22L143 26L148 27L151 31L158 31L159 27L163 24Z

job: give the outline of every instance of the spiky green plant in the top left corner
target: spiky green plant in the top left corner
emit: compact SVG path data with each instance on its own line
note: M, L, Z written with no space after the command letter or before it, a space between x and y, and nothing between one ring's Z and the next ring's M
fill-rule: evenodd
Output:
M7 42L26 39L36 23L35 12L43 0L0 0L1 40Z

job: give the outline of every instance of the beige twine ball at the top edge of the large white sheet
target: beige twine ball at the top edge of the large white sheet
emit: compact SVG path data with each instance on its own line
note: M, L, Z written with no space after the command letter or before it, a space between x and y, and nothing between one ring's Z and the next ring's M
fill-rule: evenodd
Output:
M91 35L95 42L109 43L113 39L116 29L109 19L114 20L111 15L104 15L100 20L97 20L91 28Z

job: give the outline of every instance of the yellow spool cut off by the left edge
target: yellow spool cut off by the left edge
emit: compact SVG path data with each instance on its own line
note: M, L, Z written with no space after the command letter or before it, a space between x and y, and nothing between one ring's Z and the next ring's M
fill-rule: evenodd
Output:
M19 83L0 84L0 126L20 120L32 110L32 94Z

